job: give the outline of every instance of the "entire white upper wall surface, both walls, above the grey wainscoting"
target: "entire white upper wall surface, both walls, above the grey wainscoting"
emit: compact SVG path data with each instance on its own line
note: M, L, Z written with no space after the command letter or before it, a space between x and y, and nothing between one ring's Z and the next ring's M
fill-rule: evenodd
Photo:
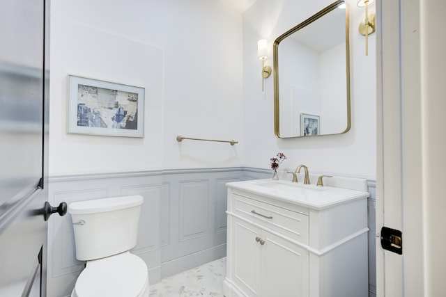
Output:
M375 37L364 56L352 6L352 128L347 134L274 136L272 76L261 92L256 42L272 42L331 0L257 0L242 16L206 0L52 3L49 174L252 166L376 176ZM371 8L374 10L374 7ZM242 24L243 23L243 24ZM66 133L66 79L77 74L146 88L144 138ZM176 142L176 136L239 144ZM120 157L125 152L124 157Z

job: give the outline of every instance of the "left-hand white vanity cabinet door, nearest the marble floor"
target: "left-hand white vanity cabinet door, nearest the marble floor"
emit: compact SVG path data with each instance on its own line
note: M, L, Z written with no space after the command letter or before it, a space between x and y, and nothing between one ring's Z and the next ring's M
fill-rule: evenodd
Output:
M246 296L262 296L261 289L261 245L256 238L261 230L243 220L233 218L231 278Z

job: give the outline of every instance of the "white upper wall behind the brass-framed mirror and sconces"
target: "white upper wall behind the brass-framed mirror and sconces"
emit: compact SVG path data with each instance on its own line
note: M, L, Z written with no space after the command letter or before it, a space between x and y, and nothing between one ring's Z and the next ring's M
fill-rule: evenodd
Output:
M257 40L268 39L266 64L272 66L274 40L330 3L331 0L257 0L243 15L245 166L268 168L269 159L277 152L283 152L288 159L279 170L295 170L298 164L305 163L312 172L376 178L376 40L375 35L370 36L369 56L365 56L364 36L357 31L364 10L357 8L355 1L351 1L350 19L352 127L348 133L311 138L276 138L272 76L265 81L265 92L261 92ZM372 6L370 11L374 9ZM282 176L288 178L286 174Z

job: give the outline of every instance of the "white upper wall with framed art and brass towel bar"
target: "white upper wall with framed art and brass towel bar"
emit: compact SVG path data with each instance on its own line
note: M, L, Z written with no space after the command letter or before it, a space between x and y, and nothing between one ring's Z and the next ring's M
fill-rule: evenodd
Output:
M239 166L241 53L241 14L221 2L54 1L49 174ZM68 74L144 87L145 137L67 134Z

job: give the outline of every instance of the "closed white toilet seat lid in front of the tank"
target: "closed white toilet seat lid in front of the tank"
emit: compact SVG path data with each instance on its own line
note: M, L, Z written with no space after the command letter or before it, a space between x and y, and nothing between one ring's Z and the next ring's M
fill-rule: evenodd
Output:
M125 252L87 262L77 278L75 292L79 297L139 296L148 285L146 263Z

